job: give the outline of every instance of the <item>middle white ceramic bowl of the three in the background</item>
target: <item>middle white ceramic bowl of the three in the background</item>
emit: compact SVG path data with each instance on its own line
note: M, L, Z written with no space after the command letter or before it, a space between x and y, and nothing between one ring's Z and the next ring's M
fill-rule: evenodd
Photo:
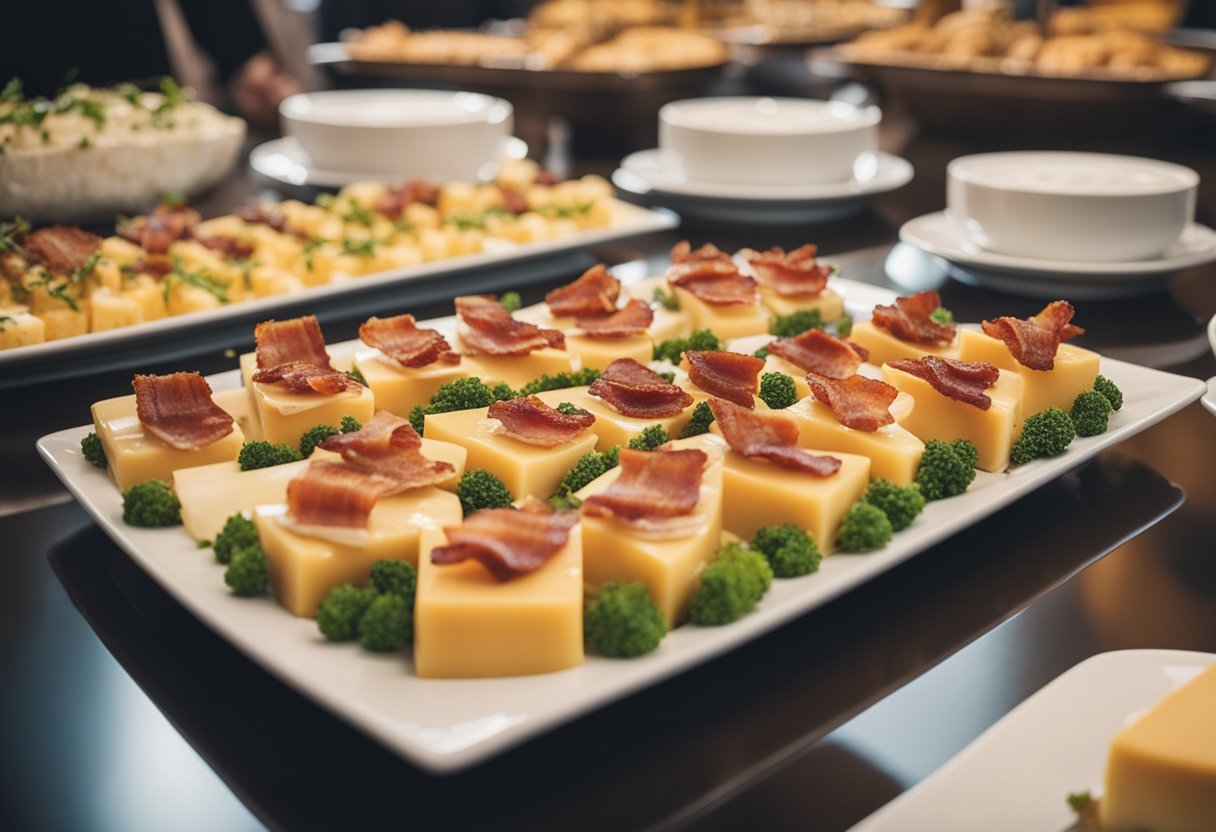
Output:
M878 107L805 99L672 101L659 111L659 147L691 181L828 185L854 176L877 147Z

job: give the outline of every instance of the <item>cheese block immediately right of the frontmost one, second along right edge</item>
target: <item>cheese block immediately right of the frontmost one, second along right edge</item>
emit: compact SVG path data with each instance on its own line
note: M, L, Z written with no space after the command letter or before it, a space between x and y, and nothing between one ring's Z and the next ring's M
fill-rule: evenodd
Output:
M676 448L694 448L683 440ZM710 459L714 459L713 456ZM580 500L598 494L617 482L613 468L576 493ZM663 611L668 626L685 618L688 601L705 564L714 560L722 538L722 463L705 467L696 513L700 525L674 540L651 540L617 521L582 516L584 570L587 585L599 588L614 580L641 580Z

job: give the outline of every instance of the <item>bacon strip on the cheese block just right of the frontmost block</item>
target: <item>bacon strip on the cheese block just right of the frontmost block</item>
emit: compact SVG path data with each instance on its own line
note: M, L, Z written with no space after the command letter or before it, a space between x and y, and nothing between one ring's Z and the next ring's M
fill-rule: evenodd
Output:
M709 457L700 450L620 451L620 476L582 501L592 517L610 517L638 529L662 528L687 517L700 499L700 477Z

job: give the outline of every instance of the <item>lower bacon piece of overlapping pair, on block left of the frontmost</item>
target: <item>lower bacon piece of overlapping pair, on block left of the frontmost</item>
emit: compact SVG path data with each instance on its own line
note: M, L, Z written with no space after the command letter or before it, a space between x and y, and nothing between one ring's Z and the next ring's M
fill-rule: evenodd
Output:
M385 477L316 460L287 483L287 513L302 525L366 529L376 501L393 488Z

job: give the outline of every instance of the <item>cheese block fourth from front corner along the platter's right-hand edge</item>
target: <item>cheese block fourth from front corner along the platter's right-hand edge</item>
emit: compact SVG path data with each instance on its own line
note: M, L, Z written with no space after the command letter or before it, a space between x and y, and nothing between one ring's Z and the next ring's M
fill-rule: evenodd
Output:
M800 399L786 410L798 420L798 444L820 451L860 454L869 459L869 476L911 485L916 479L924 443L899 423L877 431L855 431L841 425L832 409L814 397Z

